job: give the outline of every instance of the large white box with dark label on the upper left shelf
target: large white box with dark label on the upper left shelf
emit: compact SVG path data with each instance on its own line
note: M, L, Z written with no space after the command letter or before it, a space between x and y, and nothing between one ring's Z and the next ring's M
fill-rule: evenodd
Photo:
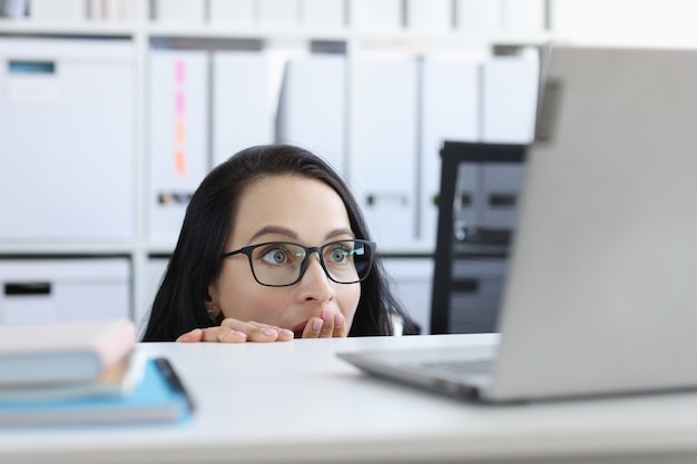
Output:
M0 239L132 236L132 45L0 39Z

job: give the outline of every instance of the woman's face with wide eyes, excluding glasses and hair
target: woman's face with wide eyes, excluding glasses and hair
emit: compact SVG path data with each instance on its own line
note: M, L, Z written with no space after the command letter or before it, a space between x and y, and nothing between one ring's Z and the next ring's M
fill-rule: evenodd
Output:
M237 204L225 251L266 241L293 241L318 247L354 238L341 197L326 184L283 175L252 184ZM326 276L316 253L302 279L287 287L259 285L244 254L224 259L209 294L223 317L258 322L296 334L323 310L341 313L346 333L361 297L361 284L336 284Z

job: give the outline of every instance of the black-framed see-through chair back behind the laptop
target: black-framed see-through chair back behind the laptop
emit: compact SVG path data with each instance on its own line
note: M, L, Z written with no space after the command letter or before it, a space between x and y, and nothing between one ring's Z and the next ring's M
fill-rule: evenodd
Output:
M443 144L431 333L495 332L526 147Z

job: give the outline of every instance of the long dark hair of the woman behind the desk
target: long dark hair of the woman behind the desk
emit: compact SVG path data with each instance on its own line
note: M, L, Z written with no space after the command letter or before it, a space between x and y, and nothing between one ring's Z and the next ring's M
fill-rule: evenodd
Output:
M237 201L253 182L277 175L317 179L342 198L356 238L370 236L363 215L342 178L320 157L289 145L266 145L242 150L213 169L187 207L179 239L157 292L144 342L173 342L196 327L215 325L205 302L208 284L222 269L220 254L233 228ZM361 283L361 299L350 336L391 335L392 317L400 317L404 333L415 333L390 290L380 257Z

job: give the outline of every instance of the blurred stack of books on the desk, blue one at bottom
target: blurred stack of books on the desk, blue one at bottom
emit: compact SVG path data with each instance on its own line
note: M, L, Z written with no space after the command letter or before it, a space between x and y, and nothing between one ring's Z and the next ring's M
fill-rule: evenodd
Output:
M185 421L192 406L130 320L0 326L0 426Z

